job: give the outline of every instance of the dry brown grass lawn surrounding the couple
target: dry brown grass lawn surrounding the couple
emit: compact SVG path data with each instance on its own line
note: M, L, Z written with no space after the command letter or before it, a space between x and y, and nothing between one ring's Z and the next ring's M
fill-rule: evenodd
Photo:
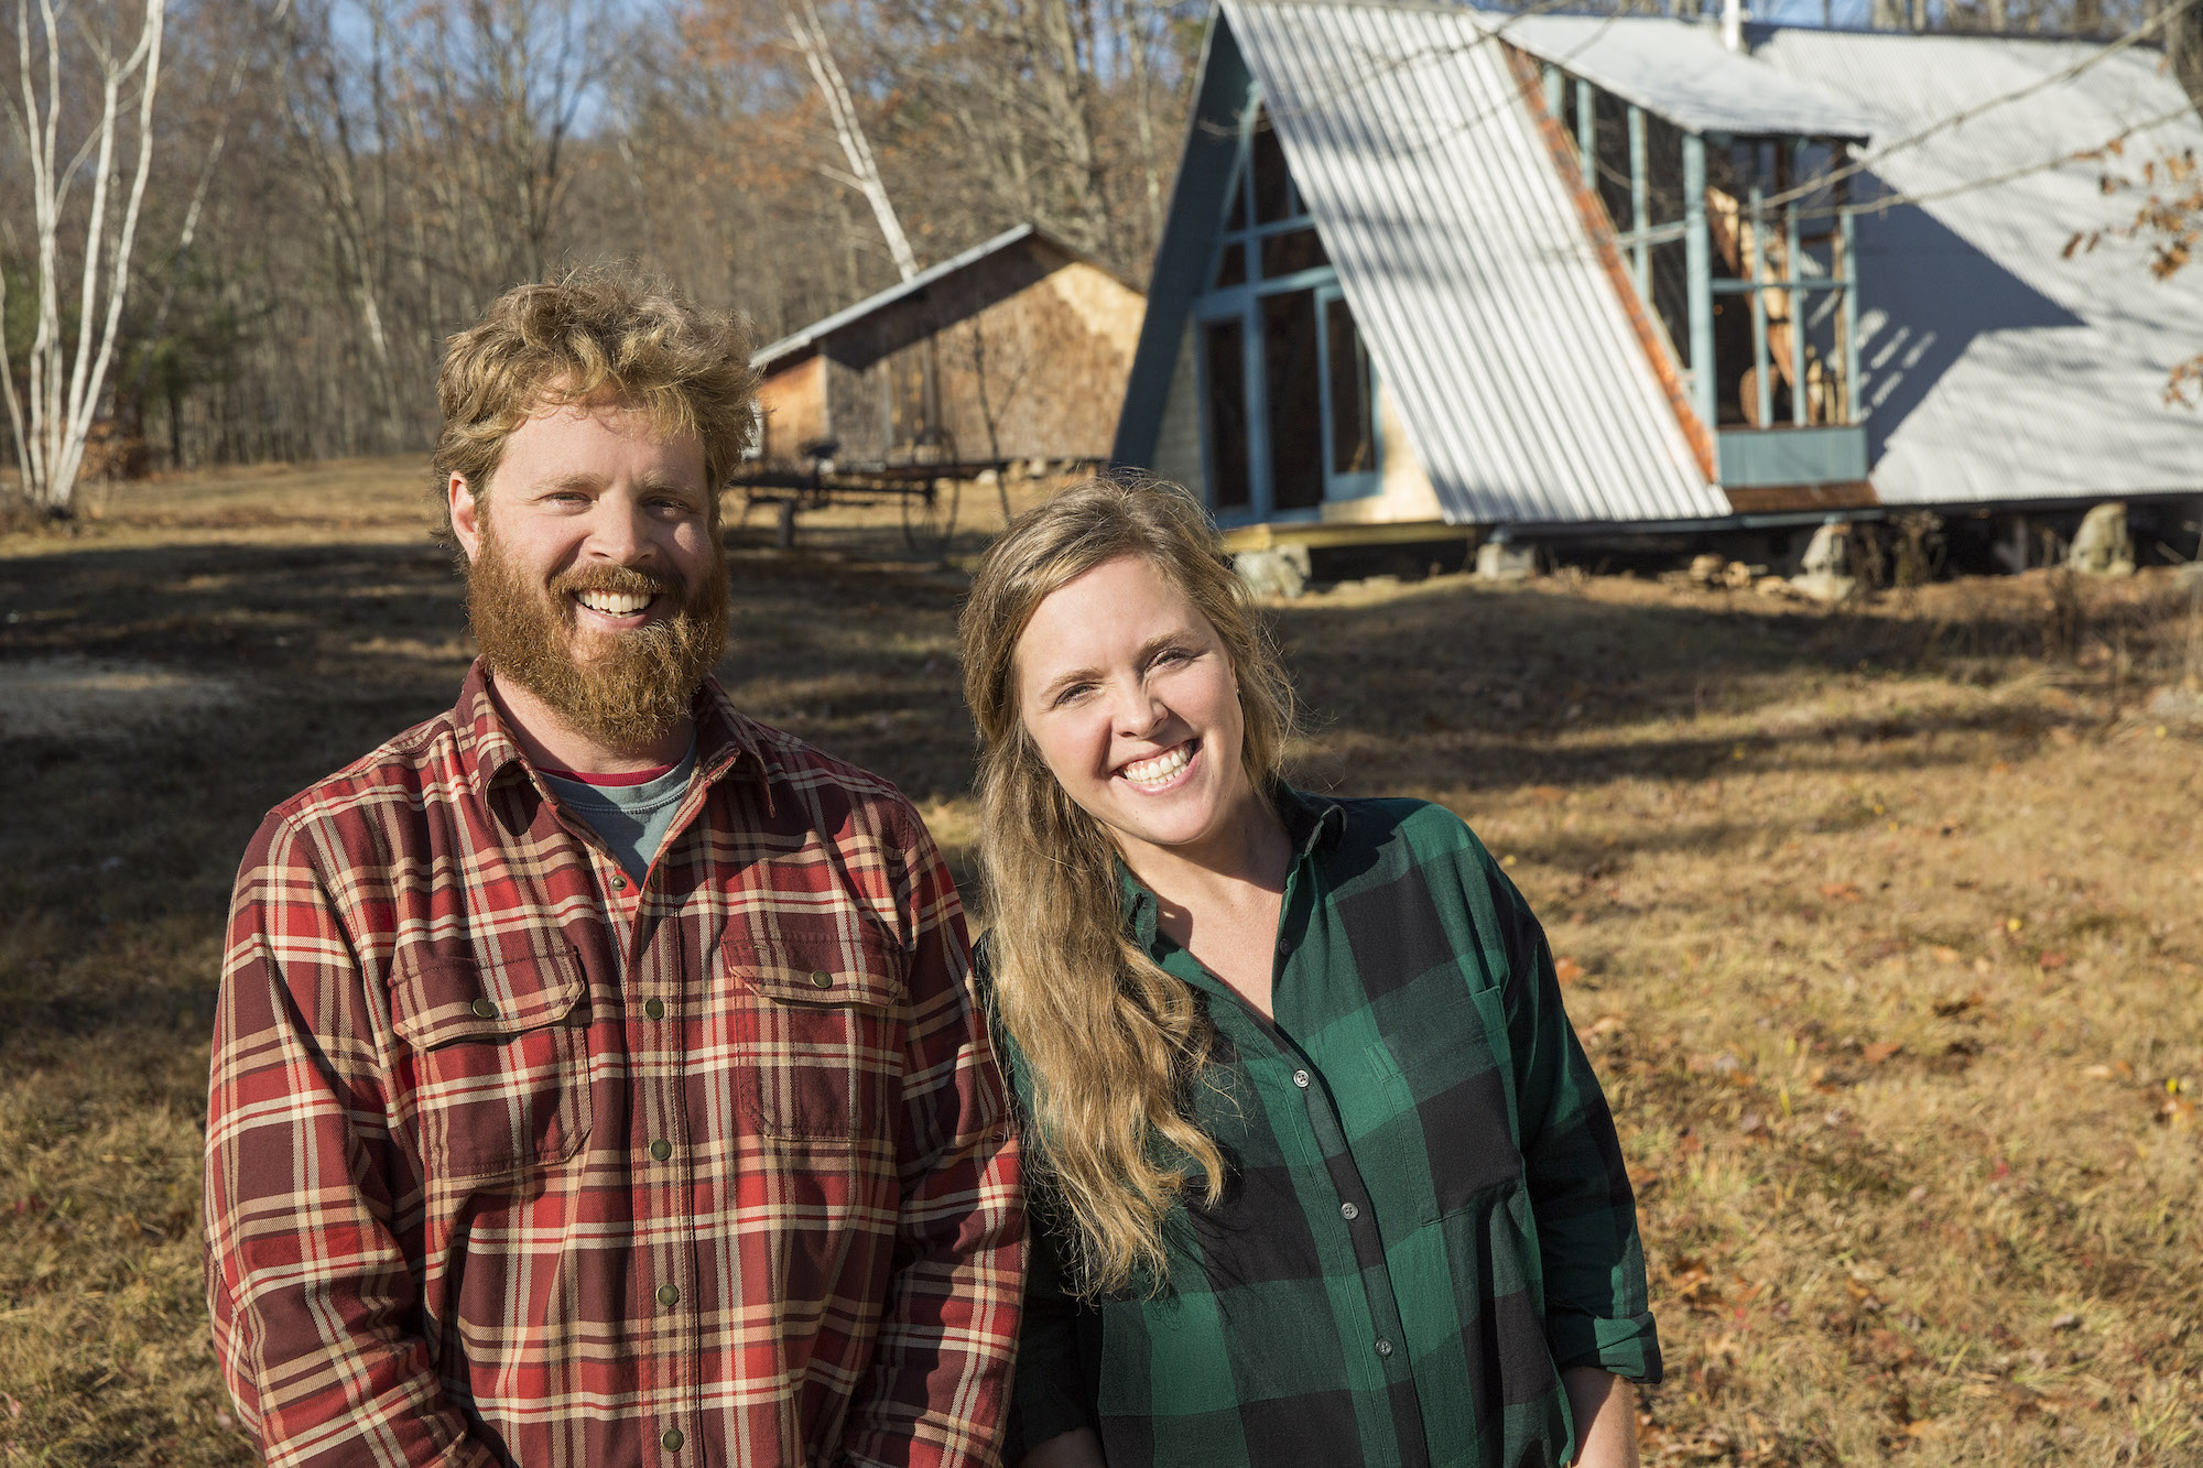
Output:
M121 489L0 540L0 705L55 659L234 692L121 677L93 727L0 734L0 1461L249 1461L198 1303L220 913L262 809L449 703L421 474ZM734 536L725 677L967 868L961 578L892 511L769 533ZM1465 813L1564 957L1641 1186L1652 1461L2203 1461L2203 725L2146 710L2203 617L2166 580L2080 589L2077 633L2053 602L1278 608L1306 780Z

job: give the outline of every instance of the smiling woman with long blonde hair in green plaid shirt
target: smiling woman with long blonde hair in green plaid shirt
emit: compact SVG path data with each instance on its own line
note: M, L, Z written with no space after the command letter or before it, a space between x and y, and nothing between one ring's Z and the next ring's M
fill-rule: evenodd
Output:
M1009 1461L1632 1464L1635 1203L1483 844L1280 778L1282 670L1181 489L1022 516L963 650L1033 1166Z

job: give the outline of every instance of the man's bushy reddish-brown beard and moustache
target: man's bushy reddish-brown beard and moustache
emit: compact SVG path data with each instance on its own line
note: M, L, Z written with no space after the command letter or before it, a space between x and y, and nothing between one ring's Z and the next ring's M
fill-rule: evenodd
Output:
M487 520L487 516L485 516ZM672 617L630 633L595 633L577 657L575 591L623 591L676 602ZM482 527L467 571L467 619L489 668L551 705L606 749L648 749L687 716L727 648L727 551L712 536L712 566L685 586L665 571L577 566L533 582Z

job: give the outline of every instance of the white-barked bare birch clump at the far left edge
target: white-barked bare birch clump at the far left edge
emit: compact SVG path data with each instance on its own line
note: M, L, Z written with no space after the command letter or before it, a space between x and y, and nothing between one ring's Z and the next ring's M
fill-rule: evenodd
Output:
M139 209L152 172L152 106L161 88L161 26L167 18L165 0L145 0L137 35L128 37L128 33L112 35L101 15L68 15L82 44L79 60L66 55L68 37L62 29L66 11L68 0L40 0L40 24L33 31L31 0L15 0L18 95L11 99L15 106L9 108L9 117L31 170L37 238L33 309L37 333L24 364L26 395L15 392L13 364L0 361L0 388L15 434L22 489L31 503L57 516L70 514L84 447L106 395L108 368L115 364L117 328L130 287L130 251L137 245ZM97 121L64 161L62 117L68 110L64 77L77 82L75 71L84 64L99 77ZM119 154L128 145L126 128L132 115L137 156L130 179L123 181ZM75 234L68 203L79 181L90 183L93 198L79 225L82 236L75 238L77 331L70 346L62 324L62 276L64 236ZM121 216L110 218L117 190L126 190L128 196ZM7 280L0 276L0 315L4 304Z

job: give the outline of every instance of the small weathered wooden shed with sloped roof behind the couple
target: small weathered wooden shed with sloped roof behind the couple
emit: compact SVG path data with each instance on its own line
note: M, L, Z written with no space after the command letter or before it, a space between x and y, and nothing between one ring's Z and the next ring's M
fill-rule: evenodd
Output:
M767 463L1104 461L1146 295L1018 225L756 355Z

